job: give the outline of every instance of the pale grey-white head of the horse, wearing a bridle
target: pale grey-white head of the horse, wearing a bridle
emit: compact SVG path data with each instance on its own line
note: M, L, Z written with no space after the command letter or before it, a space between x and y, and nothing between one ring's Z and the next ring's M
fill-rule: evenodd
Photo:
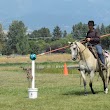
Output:
M76 60L78 57L79 48L76 42L68 42L70 44L70 50L72 55L72 60Z

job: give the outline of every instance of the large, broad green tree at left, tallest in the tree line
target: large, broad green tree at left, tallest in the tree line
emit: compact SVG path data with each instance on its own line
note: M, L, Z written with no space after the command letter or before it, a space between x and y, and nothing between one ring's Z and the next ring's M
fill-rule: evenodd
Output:
M28 52L27 28L22 21L13 21L9 26L7 49L9 53L26 54Z

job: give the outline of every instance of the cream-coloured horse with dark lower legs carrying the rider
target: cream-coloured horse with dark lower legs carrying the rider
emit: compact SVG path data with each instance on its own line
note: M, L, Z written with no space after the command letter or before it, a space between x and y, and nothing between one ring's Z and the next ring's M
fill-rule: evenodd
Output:
M92 88L92 82L95 72L99 72L103 85L104 85L104 92L108 93L108 82L109 82L109 72L110 72L110 59L108 57L105 58L106 64L107 64L107 70L106 70L106 77L104 77L104 72L100 70L99 64L97 59L94 57L94 55L91 53L91 51L84 46L80 42L73 42L70 43L70 49L72 54L72 60L76 60L79 56L79 70L81 72L83 83L84 83L84 91L86 95L86 75L85 73L88 72L90 74L90 82L89 86L91 88L91 91L93 94L95 94L93 88Z

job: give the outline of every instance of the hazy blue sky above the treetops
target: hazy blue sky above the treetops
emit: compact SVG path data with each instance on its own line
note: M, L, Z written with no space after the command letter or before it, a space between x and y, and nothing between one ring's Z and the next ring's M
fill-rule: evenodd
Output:
M56 25L71 31L72 25L94 20L110 24L110 0L0 0L0 23L8 29L12 20L22 20L31 29Z

